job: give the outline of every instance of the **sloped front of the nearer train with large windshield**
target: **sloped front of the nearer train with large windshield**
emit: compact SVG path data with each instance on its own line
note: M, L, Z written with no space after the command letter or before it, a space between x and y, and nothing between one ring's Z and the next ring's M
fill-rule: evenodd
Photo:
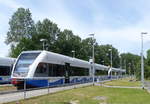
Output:
M19 55L11 74L11 83L18 89L22 89L24 79L30 77L31 66L39 54L40 52L22 52Z

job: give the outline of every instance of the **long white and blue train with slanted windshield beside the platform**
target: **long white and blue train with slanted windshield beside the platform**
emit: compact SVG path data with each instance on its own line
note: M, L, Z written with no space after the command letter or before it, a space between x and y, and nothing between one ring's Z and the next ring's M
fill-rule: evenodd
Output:
M66 83L92 82L92 65L88 61L48 51L24 51L16 60L12 70L12 84L21 88L26 80L28 87L59 86ZM94 64L95 73L105 72L105 76L96 78L107 79L109 67ZM125 72L113 69L116 72Z

